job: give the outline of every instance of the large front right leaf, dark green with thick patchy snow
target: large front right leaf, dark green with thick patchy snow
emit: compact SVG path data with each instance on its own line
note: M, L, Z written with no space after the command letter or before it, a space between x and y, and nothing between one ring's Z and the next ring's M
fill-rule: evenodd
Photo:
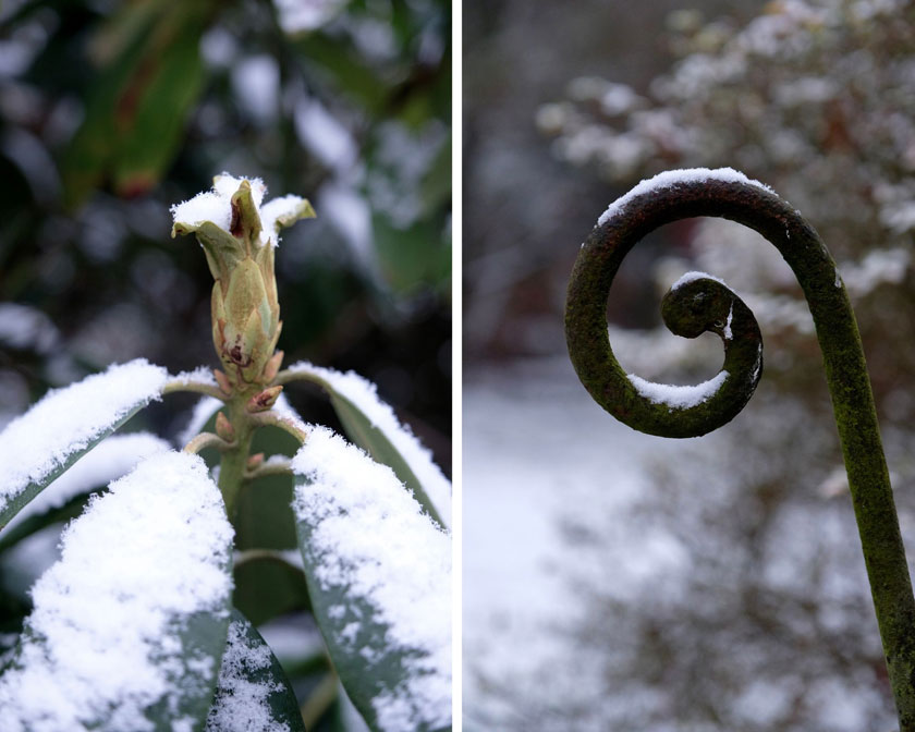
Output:
M315 618L373 730L451 724L451 541L385 465L324 427L293 459Z

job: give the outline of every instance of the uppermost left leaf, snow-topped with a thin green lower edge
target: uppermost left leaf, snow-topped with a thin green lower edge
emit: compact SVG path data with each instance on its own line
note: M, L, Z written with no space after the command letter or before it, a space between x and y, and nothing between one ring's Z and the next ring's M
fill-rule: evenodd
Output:
M0 432L0 527L151 400L168 373L143 358L48 392Z

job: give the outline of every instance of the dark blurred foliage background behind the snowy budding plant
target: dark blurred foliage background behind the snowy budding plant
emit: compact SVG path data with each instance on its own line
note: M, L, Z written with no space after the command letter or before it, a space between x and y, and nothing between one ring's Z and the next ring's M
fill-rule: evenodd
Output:
M318 212L277 256L285 363L375 381L450 473L451 59L448 0L3 2L0 425L111 362L218 363L212 279L193 239L169 239L169 207L228 171ZM339 429L317 392L290 398ZM175 405L192 403L170 399L132 427L175 438ZM268 454L290 450L263 439ZM236 601L259 623L307 610L301 571L256 552L295 547L289 481L266 483L237 526L254 553ZM4 631L28 609L24 558L40 546L26 545L5 546ZM314 629L303 657L292 618L271 643L309 729L358 729Z

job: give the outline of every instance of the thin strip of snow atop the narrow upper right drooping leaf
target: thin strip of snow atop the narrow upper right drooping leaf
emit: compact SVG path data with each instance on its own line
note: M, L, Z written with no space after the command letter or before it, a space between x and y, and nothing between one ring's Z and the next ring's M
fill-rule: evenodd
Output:
M401 425L390 405L378 398L378 389L371 381L355 371L343 374L332 368L315 366L306 361L293 364L288 370L313 376L319 383L327 385L330 390L355 404L400 452L446 526L451 525L451 483L432 462L432 453L423 447L410 427Z

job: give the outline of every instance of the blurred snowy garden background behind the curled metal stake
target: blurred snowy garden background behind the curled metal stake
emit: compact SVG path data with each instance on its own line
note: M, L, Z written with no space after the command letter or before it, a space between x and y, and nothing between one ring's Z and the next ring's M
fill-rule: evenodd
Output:
M640 179L731 166L817 227L849 288L915 550L915 3L464 3L467 730L895 729L813 324L773 247L666 227L614 281L623 366L696 383L717 339L660 328L691 269L766 343L746 410L644 437L578 385L564 290Z

